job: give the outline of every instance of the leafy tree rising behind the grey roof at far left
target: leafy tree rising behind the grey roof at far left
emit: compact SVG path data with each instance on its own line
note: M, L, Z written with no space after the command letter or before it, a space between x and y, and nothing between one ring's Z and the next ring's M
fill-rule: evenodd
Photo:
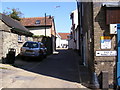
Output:
M11 17L11 18L13 18L15 20L18 20L18 21L21 20L21 16L23 14L21 13L21 11L19 11L18 8L13 8L13 9L7 8L7 9L9 9L11 11L9 11L9 12L8 11L4 11L3 14L8 15L9 17Z

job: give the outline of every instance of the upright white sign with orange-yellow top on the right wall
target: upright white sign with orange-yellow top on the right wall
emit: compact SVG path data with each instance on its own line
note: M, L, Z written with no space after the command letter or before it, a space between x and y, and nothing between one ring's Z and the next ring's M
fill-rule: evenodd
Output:
M101 36L101 49L111 49L111 37L110 36Z

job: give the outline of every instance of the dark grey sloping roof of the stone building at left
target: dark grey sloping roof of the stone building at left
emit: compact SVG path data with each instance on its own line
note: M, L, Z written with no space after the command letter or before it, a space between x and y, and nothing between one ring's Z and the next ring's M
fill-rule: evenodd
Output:
M21 23L17 20L14 20L10 18L9 16L6 16L4 14L0 14L2 16L0 19L9 27L12 28L12 30L15 30L16 32L19 32L20 34L26 34L26 35L33 35L27 28L25 28Z

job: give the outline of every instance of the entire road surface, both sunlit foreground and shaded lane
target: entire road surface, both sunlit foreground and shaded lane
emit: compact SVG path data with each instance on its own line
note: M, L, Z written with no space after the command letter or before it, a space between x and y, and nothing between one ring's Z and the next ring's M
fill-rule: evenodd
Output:
M88 89L87 69L79 65L73 50L58 50L43 61L16 60L0 64L0 88L83 88Z

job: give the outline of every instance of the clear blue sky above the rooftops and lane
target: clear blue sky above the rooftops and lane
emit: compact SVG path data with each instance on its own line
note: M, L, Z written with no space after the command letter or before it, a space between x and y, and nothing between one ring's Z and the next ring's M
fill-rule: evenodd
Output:
M59 6L56 8L56 6ZM76 2L2 2L2 11L7 7L19 8L23 17L54 16L57 32L70 32L70 13L76 9Z

